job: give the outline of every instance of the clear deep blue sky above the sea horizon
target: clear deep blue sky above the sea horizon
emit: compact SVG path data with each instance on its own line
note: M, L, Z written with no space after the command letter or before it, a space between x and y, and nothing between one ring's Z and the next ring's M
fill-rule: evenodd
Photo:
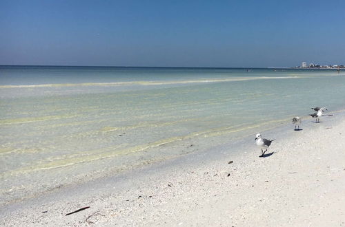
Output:
M0 0L0 65L345 65L345 1Z

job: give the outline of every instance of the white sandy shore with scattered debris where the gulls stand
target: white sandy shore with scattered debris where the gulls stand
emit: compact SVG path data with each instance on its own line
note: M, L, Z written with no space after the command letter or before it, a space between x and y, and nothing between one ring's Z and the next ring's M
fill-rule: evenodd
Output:
M344 226L345 114L1 207L1 226ZM233 152L237 150L237 152ZM273 153L272 153L273 152ZM240 153L241 155L238 155ZM90 206L66 216L79 208Z

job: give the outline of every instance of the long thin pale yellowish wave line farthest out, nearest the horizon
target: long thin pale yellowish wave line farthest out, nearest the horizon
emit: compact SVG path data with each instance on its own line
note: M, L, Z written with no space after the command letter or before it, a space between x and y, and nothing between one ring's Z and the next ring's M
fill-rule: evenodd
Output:
M288 79L288 78L306 78L306 76L255 76L255 77L236 77L236 78L215 78L209 80L174 80L174 81L130 81L130 82L110 82L110 83L57 83L43 85L0 85L0 88L36 88L36 87L91 87L91 86L120 86L120 85L178 85L188 83L219 83L244 80L262 80L262 79Z

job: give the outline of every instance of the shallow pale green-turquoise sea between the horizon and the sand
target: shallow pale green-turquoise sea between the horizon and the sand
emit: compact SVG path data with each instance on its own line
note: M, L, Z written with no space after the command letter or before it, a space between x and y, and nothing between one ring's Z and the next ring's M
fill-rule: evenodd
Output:
M0 202L345 107L331 69L0 67Z

